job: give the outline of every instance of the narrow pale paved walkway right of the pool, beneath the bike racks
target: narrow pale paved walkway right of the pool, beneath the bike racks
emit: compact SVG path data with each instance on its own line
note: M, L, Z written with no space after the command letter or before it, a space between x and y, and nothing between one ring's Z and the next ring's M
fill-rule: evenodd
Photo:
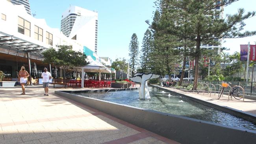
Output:
M160 87L158 85L154 85L157 87ZM233 109L237 109L239 111L244 111L247 113L251 113L251 114L256 114L256 100L250 100L250 99L245 99L245 102L243 102L243 99L241 100L236 100L234 98L232 98L232 100L228 101L228 95L224 95L223 97L221 97L219 100L217 100L218 94L214 95L214 93L208 94L207 92L205 92L204 94L202 92L200 92L199 94L197 94L197 91L193 92L185 92L179 89L173 89L171 87L161 87L167 90L171 90L173 92L178 92L180 94L184 94L186 96L191 96L193 98L197 98L199 100L204 100L206 102L211 102L217 105L221 105L221 106L226 106L226 107L230 107Z

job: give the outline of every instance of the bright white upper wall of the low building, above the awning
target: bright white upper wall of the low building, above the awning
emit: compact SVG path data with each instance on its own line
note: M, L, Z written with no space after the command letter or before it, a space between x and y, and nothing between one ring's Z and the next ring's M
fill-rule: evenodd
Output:
M15 9L15 11L13 11ZM0 32L19 37L20 39L38 44L45 48L57 48L57 45L72 45L73 50L83 52L82 44L72 41L65 35L63 35L59 29L50 28L45 19L37 19L29 15L23 5L13 5L10 2L3 0L0 5L0 15L4 15L6 18L0 19ZM25 21L25 31L27 34L20 33L19 20ZM27 25L27 26L26 26ZM42 30L41 40L36 39L36 26ZM26 29L27 28L27 29ZM28 34L29 33L29 34ZM47 39L46 34L51 34ZM50 43L47 41L51 41Z

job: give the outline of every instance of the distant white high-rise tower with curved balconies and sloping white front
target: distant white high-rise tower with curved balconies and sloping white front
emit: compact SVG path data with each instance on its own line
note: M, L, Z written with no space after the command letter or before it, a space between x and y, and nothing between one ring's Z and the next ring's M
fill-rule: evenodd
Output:
M63 34L97 54L98 13L82 7L70 6L61 17Z

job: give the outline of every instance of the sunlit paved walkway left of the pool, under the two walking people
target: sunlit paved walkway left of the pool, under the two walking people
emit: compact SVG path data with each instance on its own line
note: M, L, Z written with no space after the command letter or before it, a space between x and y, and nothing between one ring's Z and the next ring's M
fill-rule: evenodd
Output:
M43 96L42 86L26 87L26 95L0 88L0 144L178 144L54 90L61 89Z

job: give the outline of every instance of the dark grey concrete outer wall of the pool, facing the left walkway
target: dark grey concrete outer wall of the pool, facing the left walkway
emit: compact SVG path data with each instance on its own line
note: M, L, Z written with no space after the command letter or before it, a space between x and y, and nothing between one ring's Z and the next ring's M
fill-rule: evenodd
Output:
M187 144L198 143L254 143L256 141L256 131L239 127L224 126L177 116L173 114L161 113L148 109L141 109L128 105L97 100L94 98L77 96L65 91L55 91L55 94L82 103L116 118L152 131L163 137L167 137L177 142ZM236 137L234 137L236 136Z

